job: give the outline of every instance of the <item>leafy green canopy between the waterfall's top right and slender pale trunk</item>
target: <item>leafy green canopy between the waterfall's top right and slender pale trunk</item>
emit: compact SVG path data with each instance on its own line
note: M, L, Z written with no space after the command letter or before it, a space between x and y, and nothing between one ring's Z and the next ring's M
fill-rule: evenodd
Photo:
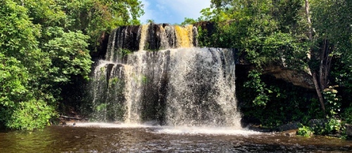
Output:
M216 21L215 32L210 36L199 30L202 46L238 48L258 69L268 64L301 71L308 67L309 46L302 41L306 36L301 29L289 29L302 20L300 1L220 0L212 4L216 8L204 9L199 18Z

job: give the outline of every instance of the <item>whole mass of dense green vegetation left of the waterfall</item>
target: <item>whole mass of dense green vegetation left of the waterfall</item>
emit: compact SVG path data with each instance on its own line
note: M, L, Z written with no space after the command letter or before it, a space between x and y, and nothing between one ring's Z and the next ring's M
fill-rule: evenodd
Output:
M0 127L49 124L63 86L88 79L104 32L142 13L137 0L1 0Z

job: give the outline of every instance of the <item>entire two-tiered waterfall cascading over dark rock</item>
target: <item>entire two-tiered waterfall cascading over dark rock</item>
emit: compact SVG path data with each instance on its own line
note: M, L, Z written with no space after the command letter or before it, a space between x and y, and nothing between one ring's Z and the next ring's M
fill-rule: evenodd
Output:
M194 47L196 32L191 25L114 29L94 70L94 118L240 128L233 51Z

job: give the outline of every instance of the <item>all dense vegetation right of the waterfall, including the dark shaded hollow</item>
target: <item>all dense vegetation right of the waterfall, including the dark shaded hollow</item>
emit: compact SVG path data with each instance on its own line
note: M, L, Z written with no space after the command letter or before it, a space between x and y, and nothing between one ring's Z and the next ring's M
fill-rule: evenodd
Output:
M201 18L182 24L213 22L212 32L199 28L201 46L238 48L246 56L253 69L237 88L245 118L271 128L310 119L351 124L352 1L211 2ZM268 65L311 74L314 89L265 75Z

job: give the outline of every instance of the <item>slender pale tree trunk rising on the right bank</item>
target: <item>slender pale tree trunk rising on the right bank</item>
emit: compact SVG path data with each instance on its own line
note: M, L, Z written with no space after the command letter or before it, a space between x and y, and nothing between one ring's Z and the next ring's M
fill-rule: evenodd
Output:
M307 15L307 21L308 21L308 35L309 35L309 40L310 42L313 42L313 30L312 30L312 22L310 21L310 16L309 16L309 2L308 0L306 1L306 15ZM314 58L314 53L313 53L313 48L310 48L310 55L308 55L308 58ZM323 60L323 59L320 59ZM322 86L319 85L318 78L317 78L317 74L315 72L315 69L310 69L310 73L313 76L313 82L314 82L314 86L315 86L315 91L317 92L318 95L318 99L320 101L320 105L322 106L322 111L325 114L325 105L324 105L324 99L322 98Z

